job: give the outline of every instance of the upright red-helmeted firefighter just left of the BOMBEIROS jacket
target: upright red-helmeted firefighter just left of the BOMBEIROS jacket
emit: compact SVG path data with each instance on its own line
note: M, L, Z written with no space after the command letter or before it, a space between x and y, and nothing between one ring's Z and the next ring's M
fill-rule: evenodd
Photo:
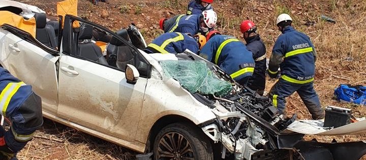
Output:
M255 68L252 77L248 82L248 87L263 95L265 88L265 72L266 66L266 48L257 34L257 26L250 20L242 21L240 31L243 34L244 40L247 42L247 48L253 53Z

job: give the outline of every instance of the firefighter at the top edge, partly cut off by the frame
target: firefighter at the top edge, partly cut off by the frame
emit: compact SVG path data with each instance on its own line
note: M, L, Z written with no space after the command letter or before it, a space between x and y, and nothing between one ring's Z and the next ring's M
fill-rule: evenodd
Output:
M188 4L187 15L201 14L202 11L212 10L212 2L214 0L192 0Z

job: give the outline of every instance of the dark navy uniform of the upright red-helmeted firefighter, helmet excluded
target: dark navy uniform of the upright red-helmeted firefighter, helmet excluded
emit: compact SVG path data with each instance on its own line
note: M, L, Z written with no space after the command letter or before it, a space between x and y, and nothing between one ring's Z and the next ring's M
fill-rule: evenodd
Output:
M255 61L254 73L248 82L248 87L256 90L260 95L263 95L265 88L265 71L267 69L265 45L259 35L256 35L247 40L247 48L253 53L253 59Z

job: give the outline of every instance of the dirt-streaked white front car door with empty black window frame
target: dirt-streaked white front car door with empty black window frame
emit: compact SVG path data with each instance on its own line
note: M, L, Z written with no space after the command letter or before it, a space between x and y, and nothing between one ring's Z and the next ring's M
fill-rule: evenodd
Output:
M78 33L71 27L75 19L111 33L102 26L66 16L62 42L65 54L59 59L58 116L88 129L132 142L147 78L140 77L136 84L129 84L122 70L82 56L84 53L75 53L81 50L77 49L77 45L82 45L86 40L79 40L78 44L74 39L88 37L77 36L82 30ZM90 47L93 46L88 48Z

